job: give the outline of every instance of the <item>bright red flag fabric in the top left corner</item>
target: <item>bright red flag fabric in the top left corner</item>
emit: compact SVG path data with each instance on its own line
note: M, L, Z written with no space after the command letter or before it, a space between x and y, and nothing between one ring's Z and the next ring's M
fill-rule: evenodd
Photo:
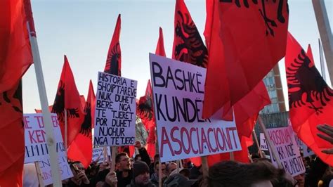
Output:
M13 89L32 64L23 1L0 1L0 93Z

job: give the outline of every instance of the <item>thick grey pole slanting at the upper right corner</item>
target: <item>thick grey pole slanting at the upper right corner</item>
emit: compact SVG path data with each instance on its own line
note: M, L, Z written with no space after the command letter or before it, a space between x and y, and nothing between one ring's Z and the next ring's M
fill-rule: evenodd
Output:
M325 2L323 0L312 0L315 18L317 20L322 48L324 49L329 78L331 86L333 85L333 38L329 19L326 12Z

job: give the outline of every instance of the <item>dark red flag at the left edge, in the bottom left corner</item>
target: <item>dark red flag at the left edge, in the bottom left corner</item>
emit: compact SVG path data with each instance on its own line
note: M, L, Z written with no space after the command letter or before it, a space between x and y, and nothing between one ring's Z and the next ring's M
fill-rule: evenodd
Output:
M22 84L0 93L0 186L22 186L25 133Z

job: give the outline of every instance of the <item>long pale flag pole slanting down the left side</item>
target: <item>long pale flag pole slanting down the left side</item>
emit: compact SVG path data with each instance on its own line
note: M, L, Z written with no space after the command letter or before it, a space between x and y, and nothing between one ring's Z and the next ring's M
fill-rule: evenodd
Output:
M29 4L30 4L30 2L29 2ZM60 178L60 169L59 169L59 164L58 164L58 154L55 150L55 138L54 138L54 134L53 134L51 112L48 110L48 100L47 100L47 95L46 95L43 70L41 68L41 57L39 56L37 37L36 37L35 33L30 32L29 22L27 22L27 29L28 29L29 37L30 37L30 44L32 46L32 56L34 58L34 71L36 72L39 99L41 102L41 112L43 114L43 120L44 120L46 137L47 137L46 146L48 148L48 155L50 156L50 165L51 165L53 186L62 186L61 178Z

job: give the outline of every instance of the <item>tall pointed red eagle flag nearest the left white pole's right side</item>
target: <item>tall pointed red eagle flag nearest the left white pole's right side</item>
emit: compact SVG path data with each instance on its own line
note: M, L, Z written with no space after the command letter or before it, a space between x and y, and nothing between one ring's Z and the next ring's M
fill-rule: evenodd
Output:
M74 76L66 56L64 56L63 71L61 72L57 94L52 108L52 113L58 116L64 141L65 110L67 112L67 146L70 146L75 136L79 134L81 124L84 121L84 112L79 91L77 91Z

